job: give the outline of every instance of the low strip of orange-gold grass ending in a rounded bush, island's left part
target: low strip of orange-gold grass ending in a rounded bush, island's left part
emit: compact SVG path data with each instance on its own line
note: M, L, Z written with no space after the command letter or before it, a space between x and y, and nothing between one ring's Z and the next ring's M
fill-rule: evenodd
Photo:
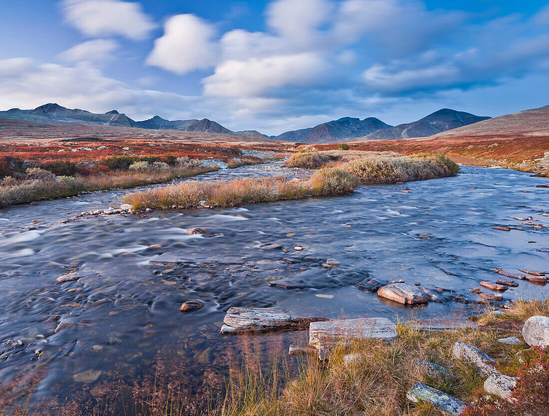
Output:
M128 193L122 198L133 209L192 208L206 201L209 206L237 206L279 200L301 199L305 196L339 195L352 192L358 182L338 169L322 169L309 181L285 176L242 178L232 181L185 181L142 192Z

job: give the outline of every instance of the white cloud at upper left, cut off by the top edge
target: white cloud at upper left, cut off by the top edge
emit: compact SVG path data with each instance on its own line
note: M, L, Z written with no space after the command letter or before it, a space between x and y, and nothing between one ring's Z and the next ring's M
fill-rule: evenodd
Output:
M65 20L89 37L146 38L156 25L141 4L121 0L64 0Z

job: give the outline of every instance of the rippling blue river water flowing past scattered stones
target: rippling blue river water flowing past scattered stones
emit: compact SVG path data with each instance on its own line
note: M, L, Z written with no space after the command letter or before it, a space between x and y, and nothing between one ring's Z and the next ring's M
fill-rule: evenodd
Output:
M295 172L270 164L199 179L273 173ZM106 208L123 190L2 209L0 342L21 340L23 345L0 356L0 381L9 384L26 370L42 369L35 398L63 399L69 386L93 389L113 376L113 368L131 376L146 373L159 351L208 367L223 346L239 342L238 336L219 335L231 306L393 321L410 313L464 316L479 306L447 301L412 310L354 285L368 277L403 279L475 301L479 298L469 290L481 280L501 277L492 272L495 267L514 272L549 269L547 229L513 219L548 222L542 213L549 213L549 190L536 188L546 183L546 178L506 169L462 167L451 178L233 209L154 211L60 223L82 211ZM410 193L397 192L404 187ZM492 228L501 225L524 230ZM192 227L210 233L189 235ZM287 252L262 249L273 243ZM304 250L294 251L294 246ZM149 263L162 254L181 265ZM298 261L282 260L287 257ZM299 260L305 257L318 261ZM341 265L321 267L327 258ZM74 267L79 268L79 280L56 282ZM268 285L278 279L303 289ZM543 285L518 282L504 299L547 296ZM188 300L201 300L204 307L180 312ZM43 321L50 314L64 320L65 329L55 333L59 321ZM275 338L292 342L306 334L267 334L254 342L267 345Z

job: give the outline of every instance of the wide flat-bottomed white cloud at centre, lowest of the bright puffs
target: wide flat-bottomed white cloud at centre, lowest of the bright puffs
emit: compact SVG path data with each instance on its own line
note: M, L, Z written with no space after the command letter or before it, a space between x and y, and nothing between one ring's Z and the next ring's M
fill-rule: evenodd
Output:
M218 97L259 97L282 86L314 85L327 65L314 53L277 55L249 60L229 60L204 78L204 93Z

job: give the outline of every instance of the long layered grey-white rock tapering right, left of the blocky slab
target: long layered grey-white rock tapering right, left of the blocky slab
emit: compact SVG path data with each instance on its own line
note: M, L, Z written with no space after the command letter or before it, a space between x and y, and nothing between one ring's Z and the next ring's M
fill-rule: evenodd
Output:
M324 318L300 317L270 308L229 308L221 334L259 333L278 330L305 329L311 322Z

